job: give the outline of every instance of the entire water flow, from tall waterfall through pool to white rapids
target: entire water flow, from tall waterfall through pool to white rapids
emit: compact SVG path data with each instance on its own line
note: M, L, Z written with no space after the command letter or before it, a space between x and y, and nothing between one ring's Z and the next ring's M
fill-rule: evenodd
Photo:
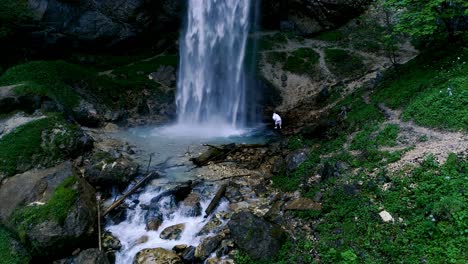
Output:
M139 127L114 135L137 147L133 158L142 168L148 166L160 173L141 192L127 197L124 221L107 219L106 230L122 244L116 252L116 264L133 263L135 255L145 248L171 250L181 244L197 246L212 235L200 235L202 227L217 212L229 211L225 199L207 218L193 215L192 208L174 204L170 195L156 199L181 182L203 175L204 168L194 168L189 159L203 151L201 143L263 143L271 136L265 125L258 122L255 85L249 81L252 77L248 77L254 68L245 67L248 35L258 10L252 2L259 1L187 2L185 28L179 42L175 124ZM254 55L249 55L249 60L255 60ZM194 187L192 192L201 198L202 212L217 189L216 184L209 183ZM116 193L107 201L108 205L118 197ZM148 206L153 209L148 210ZM155 212L162 214L162 225L156 231L147 230L150 214ZM179 239L160 238L166 227L177 224L185 224Z

